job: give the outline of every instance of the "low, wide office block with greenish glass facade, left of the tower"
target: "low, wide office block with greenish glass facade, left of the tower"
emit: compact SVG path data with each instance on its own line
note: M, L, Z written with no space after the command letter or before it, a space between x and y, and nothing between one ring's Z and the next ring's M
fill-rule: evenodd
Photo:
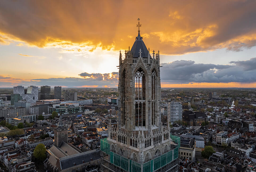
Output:
M84 113L84 109L84 106L79 106L78 103L55 104L52 105L52 107L49 107L49 113L52 114L52 112L55 111L61 116L66 114Z

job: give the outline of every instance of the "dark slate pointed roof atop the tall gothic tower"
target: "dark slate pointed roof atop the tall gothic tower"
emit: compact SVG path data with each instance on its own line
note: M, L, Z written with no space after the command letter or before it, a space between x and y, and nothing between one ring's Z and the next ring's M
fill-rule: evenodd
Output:
M140 49L142 52L141 57L148 58L148 49L147 49L146 45L144 44L141 35L138 33L138 36L136 37L133 47L131 47L131 53L133 53L133 58L139 57Z

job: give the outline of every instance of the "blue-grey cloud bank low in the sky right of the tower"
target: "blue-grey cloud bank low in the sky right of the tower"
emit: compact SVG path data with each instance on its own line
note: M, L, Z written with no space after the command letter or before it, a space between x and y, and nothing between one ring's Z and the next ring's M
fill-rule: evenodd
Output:
M255 58L230 62L235 65L195 64L184 60L161 64L161 81L168 83L188 82L256 82ZM183 64L177 66L177 64Z

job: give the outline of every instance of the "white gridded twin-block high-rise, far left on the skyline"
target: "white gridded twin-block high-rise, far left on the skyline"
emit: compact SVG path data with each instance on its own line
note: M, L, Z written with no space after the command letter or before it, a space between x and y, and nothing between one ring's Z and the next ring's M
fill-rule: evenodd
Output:
M36 86L29 86L24 90L23 86L13 87L14 94L20 94L22 99L26 100L29 103L35 103L38 100L38 87Z

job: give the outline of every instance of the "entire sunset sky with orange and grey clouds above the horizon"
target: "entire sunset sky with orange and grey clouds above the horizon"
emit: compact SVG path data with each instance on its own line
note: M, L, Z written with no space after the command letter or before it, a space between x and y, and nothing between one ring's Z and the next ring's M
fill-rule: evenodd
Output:
M138 34L162 87L256 87L256 1L0 1L0 87L117 87Z

